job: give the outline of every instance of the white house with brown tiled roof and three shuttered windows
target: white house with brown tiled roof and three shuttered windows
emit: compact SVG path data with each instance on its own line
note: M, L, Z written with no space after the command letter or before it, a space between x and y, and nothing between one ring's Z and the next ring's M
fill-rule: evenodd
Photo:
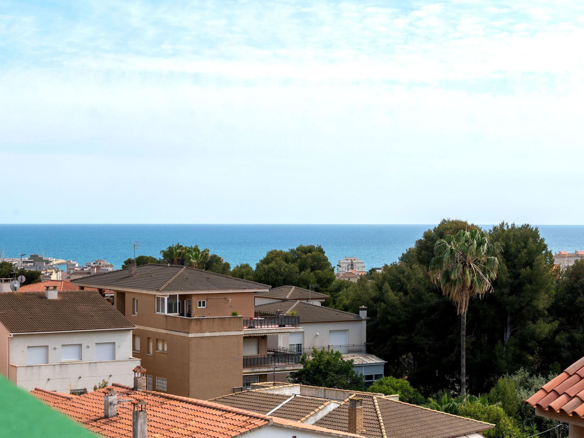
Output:
M0 294L0 373L27 391L132 385L134 328L95 290Z

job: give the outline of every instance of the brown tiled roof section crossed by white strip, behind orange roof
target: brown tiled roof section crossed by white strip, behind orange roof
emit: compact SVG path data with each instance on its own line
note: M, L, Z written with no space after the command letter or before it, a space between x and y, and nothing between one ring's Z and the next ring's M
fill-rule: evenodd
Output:
M224 395L211 399L216 403L222 405L233 406L234 408L247 409L248 411L260 412L267 414L272 412L274 408L288 400L291 395L286 394L271 394L270 392L262 391L244 391L236 392L235 394ZM276 409L270 415L288 420L300 421L305 418L310 412L318 412L324 406L328 405L330 401L321 398L311 397L294 397L281 408Z

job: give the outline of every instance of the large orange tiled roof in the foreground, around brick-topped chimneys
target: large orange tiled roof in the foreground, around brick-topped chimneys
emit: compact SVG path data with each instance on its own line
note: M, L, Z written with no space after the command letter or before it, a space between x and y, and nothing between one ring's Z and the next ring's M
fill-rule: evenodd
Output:
M104 418L103 395L112 389L117 392L117 416ZM304 425L261 413L249 412L231 406L194 398L178 397L154 391L134 391L113 384L102 390L89 392L75 398L67 395L47 398L49 391L35 388L31 391L48 405L72 417L94 433L106 437L131 436L133 402L144 400L148 412L149 437L228 438L245 434L259 427L275 424L293 429L311 430L342 437L360 435ZM124 402L121 400L131 400Z

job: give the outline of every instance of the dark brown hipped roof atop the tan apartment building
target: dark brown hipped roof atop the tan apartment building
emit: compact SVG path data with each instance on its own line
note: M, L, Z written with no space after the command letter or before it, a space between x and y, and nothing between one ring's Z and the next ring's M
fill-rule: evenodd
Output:
M135 289L165 293L269 288L266 284L255 283L255 281L242 280L188 266L148 264L137 266L136 273L135 276L130 276L127 269L119 269L85 276L72 280L72 283L113 290Z

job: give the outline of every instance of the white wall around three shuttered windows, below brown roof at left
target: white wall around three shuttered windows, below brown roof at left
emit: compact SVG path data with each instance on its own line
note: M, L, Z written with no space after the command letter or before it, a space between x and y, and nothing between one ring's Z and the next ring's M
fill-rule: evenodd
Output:
M116 360L95 361L95 344L116 343ZM61 345L81 344L81 361L61 361ZM48 364L27 365L27 347L48 345ZM140 359L132 357L132 331L104 330L69 333L36 333L13 335L10 339L10 364L15 383L27 391L35 387L50 391L69 392L87 388L103 379L109 383L132 385L132 369ZM14 366L14 367L12 367ZM11 373L13 374L13 373Z

